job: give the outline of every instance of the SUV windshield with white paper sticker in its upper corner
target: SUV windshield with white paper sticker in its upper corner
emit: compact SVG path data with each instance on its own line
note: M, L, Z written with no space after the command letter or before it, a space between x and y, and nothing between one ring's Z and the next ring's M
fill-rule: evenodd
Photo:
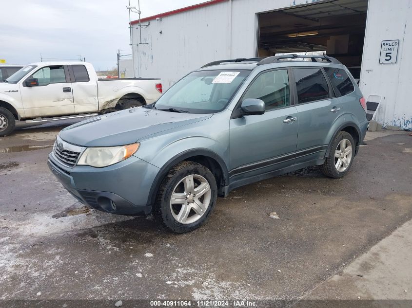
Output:
M156 102L156 109L214 113L226 108L251 71L197 71L180 79Z

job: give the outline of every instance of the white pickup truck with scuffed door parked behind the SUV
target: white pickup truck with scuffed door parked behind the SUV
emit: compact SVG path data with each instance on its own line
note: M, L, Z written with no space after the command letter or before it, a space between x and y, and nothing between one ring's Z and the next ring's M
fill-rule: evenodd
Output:
M0 82L0 136L10 134L16 120L48 122L95 116L157 101L160 79L98 79L86 62L39 62Z

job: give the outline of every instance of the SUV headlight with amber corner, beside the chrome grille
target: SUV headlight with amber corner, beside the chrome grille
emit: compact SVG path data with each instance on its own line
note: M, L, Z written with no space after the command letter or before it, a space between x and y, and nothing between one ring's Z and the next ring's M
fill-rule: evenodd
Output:
M136 153L139 143L122 146L88 147L81 154L78 165L107 167L124 161Z

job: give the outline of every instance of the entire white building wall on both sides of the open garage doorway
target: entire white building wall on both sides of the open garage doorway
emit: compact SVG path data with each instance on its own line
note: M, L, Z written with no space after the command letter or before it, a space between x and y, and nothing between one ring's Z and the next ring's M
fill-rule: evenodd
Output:
M323 0L228 0L151 20L141 31L142 42L149 44L133 48L136 75L160 77L167 90L205 63L255 57L258 13L317 1ZM411 3L369 0L361 75L365 98L370 94L383 97L377 121L403 129L412 129L412 105L407 96L412 86ZM381 41L392 39L400 40L398 62L379 64ZM133 44L139 40L139 30L133 29Z

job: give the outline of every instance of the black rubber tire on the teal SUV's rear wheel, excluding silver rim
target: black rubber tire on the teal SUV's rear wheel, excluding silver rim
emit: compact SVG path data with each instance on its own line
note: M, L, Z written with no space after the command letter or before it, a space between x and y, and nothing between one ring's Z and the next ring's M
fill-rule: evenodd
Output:
M348 140L351 143L352 146L352 154L351 154L351 160L348 164L348 166L346 167L346 169L344 171L339 171L336 169L335 166L335 151L337 150L340 142L342 140ZM330 178L341 178L343 177L345 174L347 174L352 166L353 163L353 158L355 155L355 149L356 149L356 145L355 142L353 140L353 137L350 133L346 132L346 131L340 131L336 137L334 138L334 140L332 141L331 144L331 150L329 152L328 157L325 160L325 163L323 163L322 165L320 165L320 171L322 171L322 173ZM349 156L348 156L349 157Z

